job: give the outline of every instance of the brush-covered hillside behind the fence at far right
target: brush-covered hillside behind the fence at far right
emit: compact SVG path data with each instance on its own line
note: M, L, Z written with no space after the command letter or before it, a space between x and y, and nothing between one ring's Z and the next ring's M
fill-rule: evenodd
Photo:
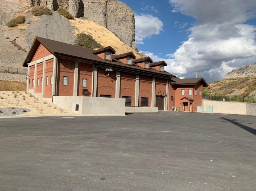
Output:
M225 95L235 95L236 93L236 95L256 96L256 77L240 77L212 82L209 87L204 88L204 95L223 95L224 82Z

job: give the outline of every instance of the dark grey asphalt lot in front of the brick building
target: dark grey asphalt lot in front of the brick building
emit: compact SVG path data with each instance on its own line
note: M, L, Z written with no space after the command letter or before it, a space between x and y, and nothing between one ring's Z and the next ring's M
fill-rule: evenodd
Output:
M256 117L0 119L0 190L256 190Z

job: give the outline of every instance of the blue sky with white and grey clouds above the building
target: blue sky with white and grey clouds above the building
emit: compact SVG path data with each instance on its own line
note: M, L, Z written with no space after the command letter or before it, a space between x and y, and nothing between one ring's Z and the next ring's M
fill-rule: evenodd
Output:
M181 78L216 81L256 63L255 0L121 0L135 12L136 41Z

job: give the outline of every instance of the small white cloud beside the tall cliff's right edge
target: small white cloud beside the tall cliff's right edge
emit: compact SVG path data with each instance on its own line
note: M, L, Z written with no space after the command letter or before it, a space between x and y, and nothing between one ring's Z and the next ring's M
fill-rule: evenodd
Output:
M163 31L163 22L150 14L135 14L135 40L137 44L144 44L143 39L152 35L159 35Z

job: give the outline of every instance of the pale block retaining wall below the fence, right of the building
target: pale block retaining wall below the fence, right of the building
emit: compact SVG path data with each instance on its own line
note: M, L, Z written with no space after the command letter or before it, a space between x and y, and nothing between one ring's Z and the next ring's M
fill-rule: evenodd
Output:
M202 106L203 112L206 112L206 106L213 106L214 113L256 115L256 104L202 100Z

